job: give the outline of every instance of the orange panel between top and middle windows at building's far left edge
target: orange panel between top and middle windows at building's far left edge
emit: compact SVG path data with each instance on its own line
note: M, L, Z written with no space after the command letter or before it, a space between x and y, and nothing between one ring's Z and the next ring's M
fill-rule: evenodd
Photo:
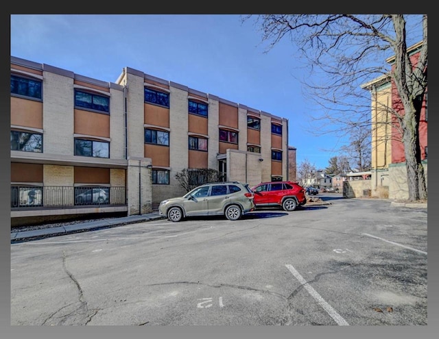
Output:
M11 97L11 125L43 128L43 103Z

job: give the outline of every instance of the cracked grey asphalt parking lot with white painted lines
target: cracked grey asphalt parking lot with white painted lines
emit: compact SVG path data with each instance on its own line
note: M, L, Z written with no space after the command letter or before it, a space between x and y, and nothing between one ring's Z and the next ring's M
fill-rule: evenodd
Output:
M328 201L11 244L11 325L427 325L427 209Z

